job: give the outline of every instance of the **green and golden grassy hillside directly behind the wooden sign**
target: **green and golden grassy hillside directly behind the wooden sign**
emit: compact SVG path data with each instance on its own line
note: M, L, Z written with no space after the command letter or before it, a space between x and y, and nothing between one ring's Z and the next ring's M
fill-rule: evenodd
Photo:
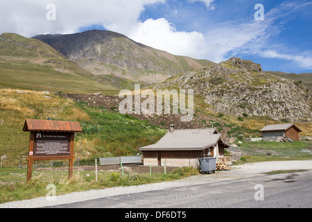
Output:
M6 165L17 166L28 153L29 133L22 131L27 118L79 121L83 133L76 135L76 157L135 155L137 148L157 142L166 133L119 112L91 108L56 94L23 92L0 89L0 155L8 156Z

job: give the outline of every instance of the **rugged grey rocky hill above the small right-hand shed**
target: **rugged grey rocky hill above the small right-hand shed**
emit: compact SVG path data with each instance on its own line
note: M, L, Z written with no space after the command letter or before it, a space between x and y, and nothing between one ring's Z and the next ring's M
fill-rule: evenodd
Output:
M169 78L154 88L194 89L214 112L311 121L311 91L288 78L263 72L261 65L251 60L230 58Z

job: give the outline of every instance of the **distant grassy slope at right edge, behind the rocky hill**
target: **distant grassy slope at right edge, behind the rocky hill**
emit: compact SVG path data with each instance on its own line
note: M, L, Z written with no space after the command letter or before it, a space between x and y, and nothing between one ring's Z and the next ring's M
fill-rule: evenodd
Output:
M295 80L296 84L305 85L308 89L312 90L312 73L288 74L282 71L266 71L266 73L284 78L291 78L292 80Z

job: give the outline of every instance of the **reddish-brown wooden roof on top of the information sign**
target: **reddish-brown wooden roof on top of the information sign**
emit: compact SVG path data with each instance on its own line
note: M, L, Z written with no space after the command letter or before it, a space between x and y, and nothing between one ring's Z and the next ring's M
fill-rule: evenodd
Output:
M43 119L26 119L23 131L45 131L45 132L82 132L78 122L54 121Z

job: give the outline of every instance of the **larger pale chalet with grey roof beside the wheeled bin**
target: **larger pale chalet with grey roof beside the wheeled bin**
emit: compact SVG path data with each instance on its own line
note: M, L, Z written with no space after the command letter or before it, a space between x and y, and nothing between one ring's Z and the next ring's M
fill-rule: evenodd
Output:
M167 167L196 167L200 157L222 157L225 144L216 129L173 130L156 144L139 148L144 165Z

